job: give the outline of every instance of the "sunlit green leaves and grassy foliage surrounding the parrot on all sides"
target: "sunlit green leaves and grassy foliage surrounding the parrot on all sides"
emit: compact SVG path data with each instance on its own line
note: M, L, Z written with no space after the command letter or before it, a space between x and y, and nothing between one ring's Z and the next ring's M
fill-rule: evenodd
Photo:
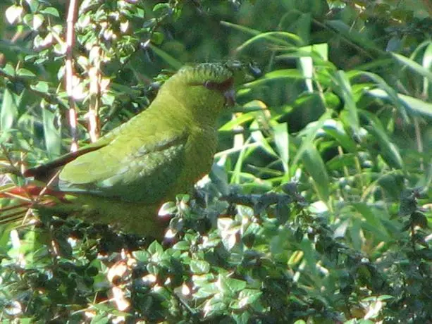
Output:
M0 4L13 170L128 120L163 69L240 58L263 75L221 118L212 182L164 206L173 246L44 215L3 225L5 323L432 321L428 1L78 2L72 101L73 1Z

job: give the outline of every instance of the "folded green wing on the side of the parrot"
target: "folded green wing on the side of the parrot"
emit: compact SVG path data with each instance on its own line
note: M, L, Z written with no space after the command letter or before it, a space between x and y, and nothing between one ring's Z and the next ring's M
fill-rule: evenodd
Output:
M157 203L183 170L187 132L118 136L68 163L59 188L123 201Z

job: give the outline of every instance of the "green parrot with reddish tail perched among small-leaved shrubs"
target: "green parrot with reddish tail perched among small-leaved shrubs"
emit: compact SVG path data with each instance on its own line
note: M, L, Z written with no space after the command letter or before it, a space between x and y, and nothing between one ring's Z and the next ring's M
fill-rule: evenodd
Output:
M181 68L149 108L127 123L76 152L27 170L25 176L47 180L60 168L56 185L44 189L51 200L31 207L163 237L166 224L157 211L209 172L216 152L216 118L233 104L233 86L244 71L233 62ZM43 187L15 187L1 196L37 197ZM4 213L0 221L12 218Z

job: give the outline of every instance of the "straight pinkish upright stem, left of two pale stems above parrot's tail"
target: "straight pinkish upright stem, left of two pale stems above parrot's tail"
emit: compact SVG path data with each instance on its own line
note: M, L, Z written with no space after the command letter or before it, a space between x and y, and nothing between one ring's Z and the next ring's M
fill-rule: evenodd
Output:
M72 143L70 151L78 150L78 118L73 99L73 45L75 43L74 23L78 8L78 0L70 0L68 18L66 19L66 93L69 100L69 125Z

